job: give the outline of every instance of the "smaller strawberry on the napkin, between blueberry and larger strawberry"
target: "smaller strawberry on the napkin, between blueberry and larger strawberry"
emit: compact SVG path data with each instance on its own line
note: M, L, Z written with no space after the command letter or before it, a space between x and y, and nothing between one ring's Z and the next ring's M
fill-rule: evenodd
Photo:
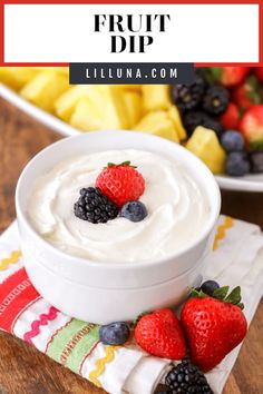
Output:
M186 355L179 321L171 309L144 315L135 327L137 344L157 357L182 359Z

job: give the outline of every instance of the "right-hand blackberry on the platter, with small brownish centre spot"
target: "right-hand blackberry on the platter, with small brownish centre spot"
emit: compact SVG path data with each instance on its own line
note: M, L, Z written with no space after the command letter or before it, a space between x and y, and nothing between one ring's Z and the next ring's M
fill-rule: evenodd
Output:
M211 86L203 98L203 109L211 115L223 114L230 102L230 92L223 86Z

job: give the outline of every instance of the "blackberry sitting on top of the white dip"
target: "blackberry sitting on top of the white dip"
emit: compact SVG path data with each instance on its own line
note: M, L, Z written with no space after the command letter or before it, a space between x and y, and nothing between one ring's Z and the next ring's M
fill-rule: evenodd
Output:
M74 205L74 213L79 219L90 223L107 223L118 215L118 207L104 196L99 187L88 187L80 190L80 197Z

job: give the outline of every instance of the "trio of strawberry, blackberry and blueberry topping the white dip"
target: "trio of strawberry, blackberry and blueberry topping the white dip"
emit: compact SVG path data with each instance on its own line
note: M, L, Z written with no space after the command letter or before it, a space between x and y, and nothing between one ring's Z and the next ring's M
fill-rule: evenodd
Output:
M96 179L95 187L80 189L74 205L75 216L92 224L107 223L118 215L130 221L142 221L148 215L139 201L145 180L130 161L109 162Z

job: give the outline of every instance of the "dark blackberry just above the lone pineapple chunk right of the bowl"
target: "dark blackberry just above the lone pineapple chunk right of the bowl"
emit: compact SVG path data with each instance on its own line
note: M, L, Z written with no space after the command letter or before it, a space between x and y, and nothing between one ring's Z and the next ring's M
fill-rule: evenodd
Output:
M204 126L216 132L218 137L224 132L224 127L221 122L203 111L189 111L183 117L183 124L187 135L191 136L197 126Z

